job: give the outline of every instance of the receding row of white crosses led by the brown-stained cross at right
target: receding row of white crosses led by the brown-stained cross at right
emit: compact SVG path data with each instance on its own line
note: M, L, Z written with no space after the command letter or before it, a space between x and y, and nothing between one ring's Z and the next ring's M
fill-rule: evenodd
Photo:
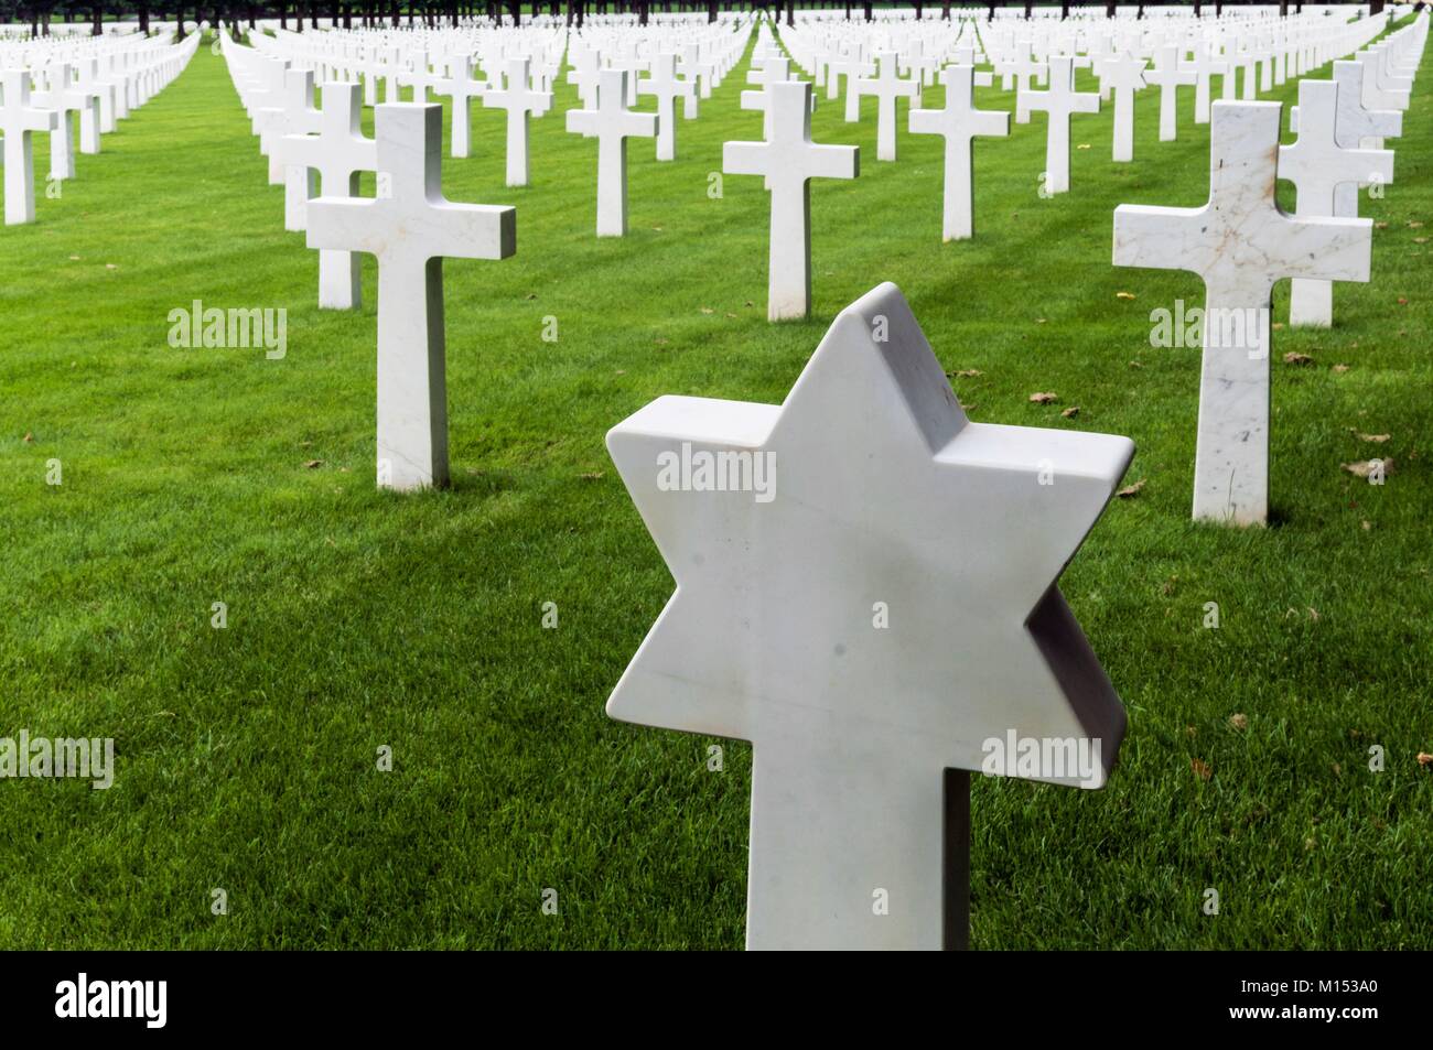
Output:
M1422 54L1426 24L1420 19L1396 40ZM1380 77L1412 76L1412 66L1390 72L1389 56L1399 52L1384 44L1336 62L1331 80L1301 82L1290 146L1278 145L1278 103L1214 103L1208 203L1115 212L1115 265L1188 269L1205 282L1195 519L1268 517L1273 286L1293 278L1293 324L1328 325L1331 282L1369 279L1373 223L1357 218L1357 189L1391 182L1393 153L1364 143L1401 130L1396 109L1369 100L1386 97ZM1277 178L1295 186L1294 215L1275 203Z

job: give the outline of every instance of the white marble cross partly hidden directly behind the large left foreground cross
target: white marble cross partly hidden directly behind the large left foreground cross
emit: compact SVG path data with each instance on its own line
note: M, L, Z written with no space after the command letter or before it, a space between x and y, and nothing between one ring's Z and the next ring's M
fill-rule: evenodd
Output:
M324 85L318 135L288 135L277 143L284 159L314 169L324 196L358 196L361 172L378 170L378 145L363 133L363 97L357 83ZM307 221L307 205L305 205ZM318 308L355 309L363 302L355 252L318 252Z

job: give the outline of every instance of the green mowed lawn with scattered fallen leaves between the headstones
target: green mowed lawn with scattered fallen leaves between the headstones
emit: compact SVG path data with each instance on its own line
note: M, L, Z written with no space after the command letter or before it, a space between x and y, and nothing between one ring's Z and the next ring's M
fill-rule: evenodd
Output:
M118 776L0 782L0 945L738 947L749 748L708 772L714 741L603 713L672 590L603 434L668 392L781 401L881 281L947 370L983 372L954 380L973 418L1126 434L1145 481L1062 580L1129 709L1118 768L1101 792L976 778L973 944L1430 945L1433 77L1363 199L1373 281L1337 286L1331 331L1275 332L1274 523L1238 531L1189 521L1198 351L1149 345L1151 311L1202 286L1111 266L1116 205L1205 199L1192 89L1174 143L1139 97L1129 165L1108 105L1076 117L1055 199L1043 115L979 140L977 236L949 245L940 139L903 106L878 163L874 100L847 125L823 99L814 138L860 145L861 176L813 186L814 317L774 327L761 182L708 195L721 143L759 138L745 69L679 160L631 143L622 241L593 236L573 89L533 122L526 189L503 115L474 112L444 189L516 205L519 251L446 264L447 491L375 491L373 261L361 312L315 308L317 255L208 49L60 199L40 182L39 222L0 232L0 736L113 736ZM193 299L285 308L287 357L171 348ZM1371 456L1381 487L1340 468Z

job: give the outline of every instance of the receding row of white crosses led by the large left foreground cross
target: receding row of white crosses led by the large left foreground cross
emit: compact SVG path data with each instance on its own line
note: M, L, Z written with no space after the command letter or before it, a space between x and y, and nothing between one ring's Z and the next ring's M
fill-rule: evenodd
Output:
M516 251L516 211L454 203L441 192L443 107L424 102L381 103L374 138L361 132L363 87L322 85L322 109L310 110L314 73L282 59L224 44L235 85L257 113L265 100L291 106L269 117L271 156L305 186L320 176L321 195L305 199L302 228L320 254L320 307L360 305L358 254L378 264L377 483L413 490L449 480L447 372L443 259L503 259ZM526 85L526 60L512 60L514 86ZM267 82L267 83L265 83ZM297 119L312 113L311 126ZM509 155L512 160L512 153ZM358 196L363 173L378 176L378 195Z

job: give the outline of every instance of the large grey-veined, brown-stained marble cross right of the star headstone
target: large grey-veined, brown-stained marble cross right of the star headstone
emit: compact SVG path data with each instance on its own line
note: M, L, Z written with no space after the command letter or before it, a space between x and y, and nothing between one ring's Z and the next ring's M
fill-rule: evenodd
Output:
M1204 278L1194 517L1268 517L1270 299L1288 276L1367 281L1367 219L1295 219L1274 199L1280 103L1215 102L1209 201L1115 209L1116 266Z

